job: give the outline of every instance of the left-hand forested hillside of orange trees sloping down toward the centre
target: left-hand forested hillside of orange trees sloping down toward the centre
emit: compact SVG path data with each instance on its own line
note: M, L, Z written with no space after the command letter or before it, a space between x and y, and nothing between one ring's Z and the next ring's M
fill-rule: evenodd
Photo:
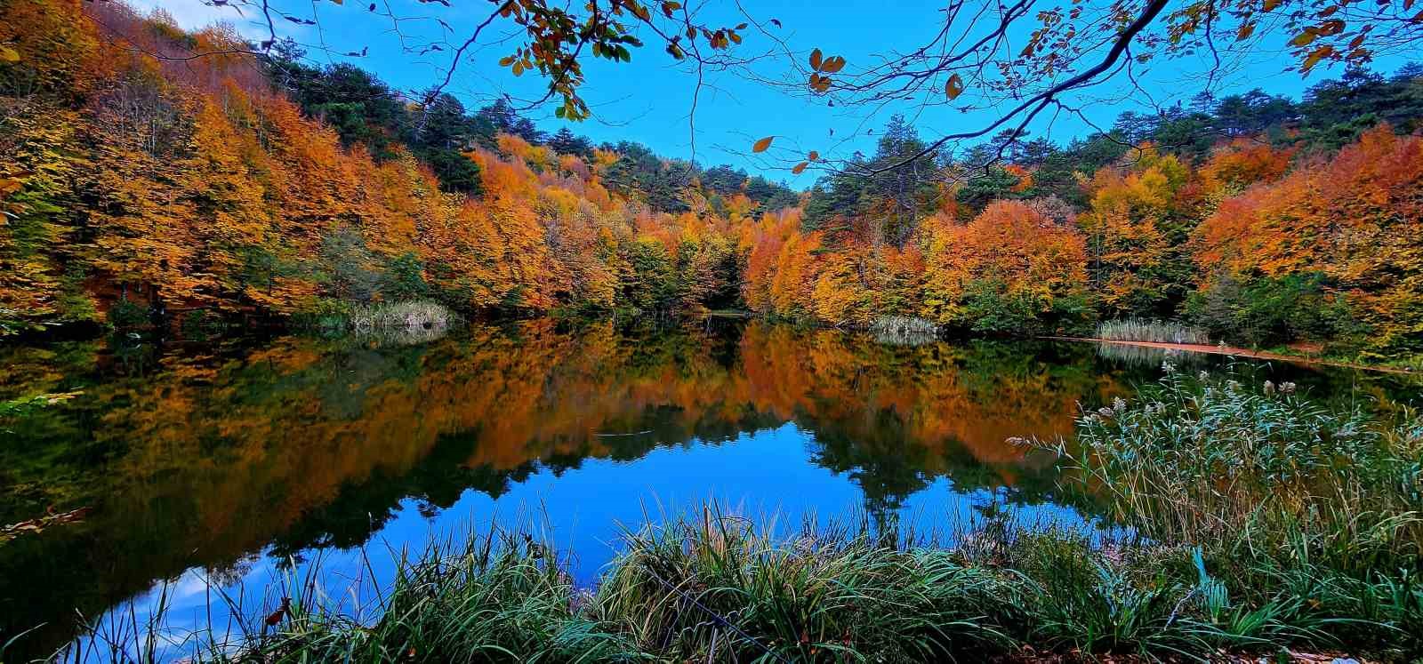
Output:
M507 104L417 111L350 65L221 54L246 45L118 3L14 0L0 24L7 330L417 297L733 306L760 215L798 203L730 168L545 136Z

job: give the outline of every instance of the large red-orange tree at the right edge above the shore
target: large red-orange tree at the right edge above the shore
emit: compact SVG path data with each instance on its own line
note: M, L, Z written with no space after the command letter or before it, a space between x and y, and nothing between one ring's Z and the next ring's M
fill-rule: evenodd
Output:
M1207 287L1318 276L1376 354L1423 351L1423 138L1380 125L1221 202L1195 233ZM1289 304L1289 303L1282 303ZM1318 314L1318 311L1312 311Z

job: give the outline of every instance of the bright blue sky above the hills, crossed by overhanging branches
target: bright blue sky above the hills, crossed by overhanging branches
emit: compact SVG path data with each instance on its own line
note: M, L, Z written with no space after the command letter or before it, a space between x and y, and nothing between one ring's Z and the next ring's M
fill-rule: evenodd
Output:
M448 88L467 107L507 98L546 128L562 122L554 117L558 100L548 80L514 77L498 65L501 54L524 38L515 26L497 21L507 3L379 0L324 9L312 0L138 4L162 7L185 27L229 20L258 44L272 36L293 38L316 61L351 61L413 100ZM1316 63L1308 80L1285 71L1299 64L1301 50L1286 41L1302 24L1302 10L1286 10L1312 4L1286 3L1268 13L1259 7L1247 11L1249 0L955 0L948 6L895 4L872 11L807 11L780 1L679 4L670 13L672 26L744 24L743 43L716 53L683 43L682 51L692 57L679 63L662 51L666 40L680 33L655 20L635 20L630 34L646 45L632 50L632 63L583 64L588 84L578 94L586 95L598 121L569 127L595 141L629 138L635 128L635 138L659 152L699 159L714 154L773 176L785 176L811 149L821 155L813 169L844 168L857 152L872 152L874 129L895 114L911 117L921 135L949 152L996 129L1037 136L1050 127L1064 139L1110 125L1121 111L1160 111L1187 104L1202 91L1228 94L1264 84L1271 92L1298 95L1309 82L1336 75L1342 70L1332 57ZM1153 20L1118 54L1124 57L1073 82L1077 74L1103 63L1128 18L1151 10ZM1379 43L1375 67L1396 68L1403 61L1400 48L1417 37L1419 28L1400 18L1402 10L1349 10L1353 23L1392 21L1392 30L1370 34ZM1056 18L1044 18L1054 11ZM649 18L660 17L653 11ZM1194 21L1195 31L1190 38L1170 41L1174 26L1183 21ZM1248 31L1241 27L1247 24ZM1025 57L1023 48L1035 43L1040 43L1037 51ZM814 48L847 61L842 73L830 77L834 82L824 92L805 85L814 74L808 67ZM943 94L951 78L963 88L952 98ZM704 98L710 90L717 92ZM1073 111L1049 119L1054 104ZM777 136L774 146L751 154L750 144L768 135ZM712 145L713 152L697 155L699 142Z

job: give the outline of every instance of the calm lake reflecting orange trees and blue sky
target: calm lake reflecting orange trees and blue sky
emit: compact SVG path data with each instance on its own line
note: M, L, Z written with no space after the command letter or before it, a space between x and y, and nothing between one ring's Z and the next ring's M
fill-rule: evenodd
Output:
M0 348L0 398L78 391L0 422L0 643L50 653L159 606L166 628L256 611L283 583L351 603L393 556L491 523L538 529L595 583L618 536L703 500L788 528L814 515L953 532L982 515L1104 528L1057 496L1072 434L1163 360L1052 341L896 346L730 318L534 320L441 338L127 337ZM1331 400L1414 401L1413 377L1254 363ZM131 627L129 627L131 628ZM88 644L92 648L92 643ZM179 654L171 647L169 654Z

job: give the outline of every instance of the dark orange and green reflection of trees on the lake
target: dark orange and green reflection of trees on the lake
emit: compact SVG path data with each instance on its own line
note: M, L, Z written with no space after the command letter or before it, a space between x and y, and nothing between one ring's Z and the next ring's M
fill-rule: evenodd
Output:
M0 567L28 572L0 580L6 631L43 617L53 626L41 640L60 641L74 604L97 611L268 543L276 556L356 546L406 499L434 513L468 488L497 498L588 458L638 459L791 419L881 516L945 475L956 491L1009 485L1036 500L1046 475L1005 438L1066 434L1077 401L1120 390L1087 347L885 347L724 321L647 331L541 320L408 347L280 338L122 354L61 346L6 368L37 390L85 394L0 446L0 513L97 508L81 526L0 549Z

